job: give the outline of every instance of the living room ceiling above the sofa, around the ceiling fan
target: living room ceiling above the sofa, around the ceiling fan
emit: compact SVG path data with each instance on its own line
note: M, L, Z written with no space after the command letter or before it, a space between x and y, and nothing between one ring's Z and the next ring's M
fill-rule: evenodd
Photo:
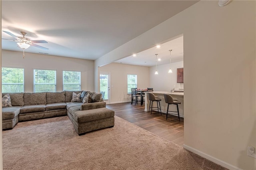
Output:
M24 31L30 40L48 42L37 44L48 50L31 46L25 53L95 60L196 2L4 0L2 30L18 37L20 31ZM4 32L2 38L15 40ZM8 40L2 40L2 49L22 51L16 42ZM158 53L160 57L162 54Z

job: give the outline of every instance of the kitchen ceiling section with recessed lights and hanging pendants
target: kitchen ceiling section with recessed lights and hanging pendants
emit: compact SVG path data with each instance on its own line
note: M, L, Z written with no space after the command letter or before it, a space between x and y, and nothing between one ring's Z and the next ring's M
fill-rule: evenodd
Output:
M171 55L169 51L170 49L172 50ZM155 54L157 54L158 59L161 59L161 61L157 61L157 65L170 63L170 57L171 63L183 61L183 36L160 44L159 48L152 47L137 53L135 57L131 55L129 57L115 61L115 63L151 67L156 65Z

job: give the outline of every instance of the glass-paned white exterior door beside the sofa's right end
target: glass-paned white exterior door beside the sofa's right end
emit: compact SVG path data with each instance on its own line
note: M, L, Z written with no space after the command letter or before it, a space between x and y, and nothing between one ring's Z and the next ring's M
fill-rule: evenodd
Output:
M100 93L104 101L110 103L110 73L100 72Z

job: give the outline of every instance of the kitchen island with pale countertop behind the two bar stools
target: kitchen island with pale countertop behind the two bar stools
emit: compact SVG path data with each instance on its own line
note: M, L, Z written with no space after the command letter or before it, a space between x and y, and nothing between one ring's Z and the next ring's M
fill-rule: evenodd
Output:
M145 110L144 111L148 111L149 110L149 103L150 103L150 101L148 100L147 93L153 93L156 97L161 99L160 105L161 105L162 113L166 113L168 104L165 103L165 101L164 101L164 94L169 94L169 95L172 96L172 98L174 100L178 100L178 101L181 102L181 104L179 105L179 112L180 112L180 117L184 117L184 93L183 92L146 91L144 93L145 93ZM153 103L153 107L156 107L156 102ZM172 113L170 111L177 111L176 105L169 105L169 112L168 113ZM174 114L176 114L176 113L174 113Z

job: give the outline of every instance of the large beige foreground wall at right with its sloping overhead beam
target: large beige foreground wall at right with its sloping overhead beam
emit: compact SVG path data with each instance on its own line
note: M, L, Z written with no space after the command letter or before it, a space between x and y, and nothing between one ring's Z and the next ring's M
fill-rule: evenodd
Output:
M255 3L200 1L97 59L95 67L183 34L184 147L230 169L256 169L256 159L247 156L247 146L256 148Z

